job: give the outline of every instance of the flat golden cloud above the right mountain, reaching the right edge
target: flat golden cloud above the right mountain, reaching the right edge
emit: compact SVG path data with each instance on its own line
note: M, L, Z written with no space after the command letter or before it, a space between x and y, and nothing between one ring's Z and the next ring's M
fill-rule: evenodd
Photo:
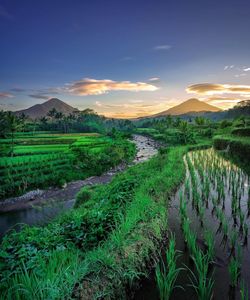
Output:
M188 86L186 92L200 95L250 94L250 85L200 83Z

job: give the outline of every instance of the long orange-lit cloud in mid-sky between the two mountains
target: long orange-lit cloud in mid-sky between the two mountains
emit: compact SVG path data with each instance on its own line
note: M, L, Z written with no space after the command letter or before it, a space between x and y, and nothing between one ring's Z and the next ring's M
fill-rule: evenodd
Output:
M113 81L110 79L84 78L70 84L66 84L65 91L77 95L102 95L111 91L156 91L158 88L145 82Z

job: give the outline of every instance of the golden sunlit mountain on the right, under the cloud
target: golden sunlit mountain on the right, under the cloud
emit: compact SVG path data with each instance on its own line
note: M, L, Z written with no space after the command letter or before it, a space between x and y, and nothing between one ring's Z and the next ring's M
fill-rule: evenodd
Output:
M167 116L167 115L177 116L177 115L183 115L188 113L218 112L218 111L221 111L221 109L213 105L207 104L206 102L192 98L182 102L179 105L171 107L168 110L162 111L150 117L160 117L160 116Z

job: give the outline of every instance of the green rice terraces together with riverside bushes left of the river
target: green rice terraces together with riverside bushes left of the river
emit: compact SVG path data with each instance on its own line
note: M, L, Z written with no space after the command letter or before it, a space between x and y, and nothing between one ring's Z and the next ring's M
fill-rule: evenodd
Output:
M9 143L12 155L0 158L0 198L99 175L135 152L124 138L99 134L26 133L0 139L0 145Z

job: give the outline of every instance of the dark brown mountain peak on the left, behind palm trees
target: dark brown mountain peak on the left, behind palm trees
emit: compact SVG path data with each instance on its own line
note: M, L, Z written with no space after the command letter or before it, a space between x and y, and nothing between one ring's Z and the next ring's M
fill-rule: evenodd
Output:
M31 106L30 108L16 111L15 114L25 114L30 119L39 119L45 117L53 108L55 108L58 112L63 113L64 115L69 115L73 112L78 111L77 108L68 105L62 100L51 98L42 104L36 104Z

